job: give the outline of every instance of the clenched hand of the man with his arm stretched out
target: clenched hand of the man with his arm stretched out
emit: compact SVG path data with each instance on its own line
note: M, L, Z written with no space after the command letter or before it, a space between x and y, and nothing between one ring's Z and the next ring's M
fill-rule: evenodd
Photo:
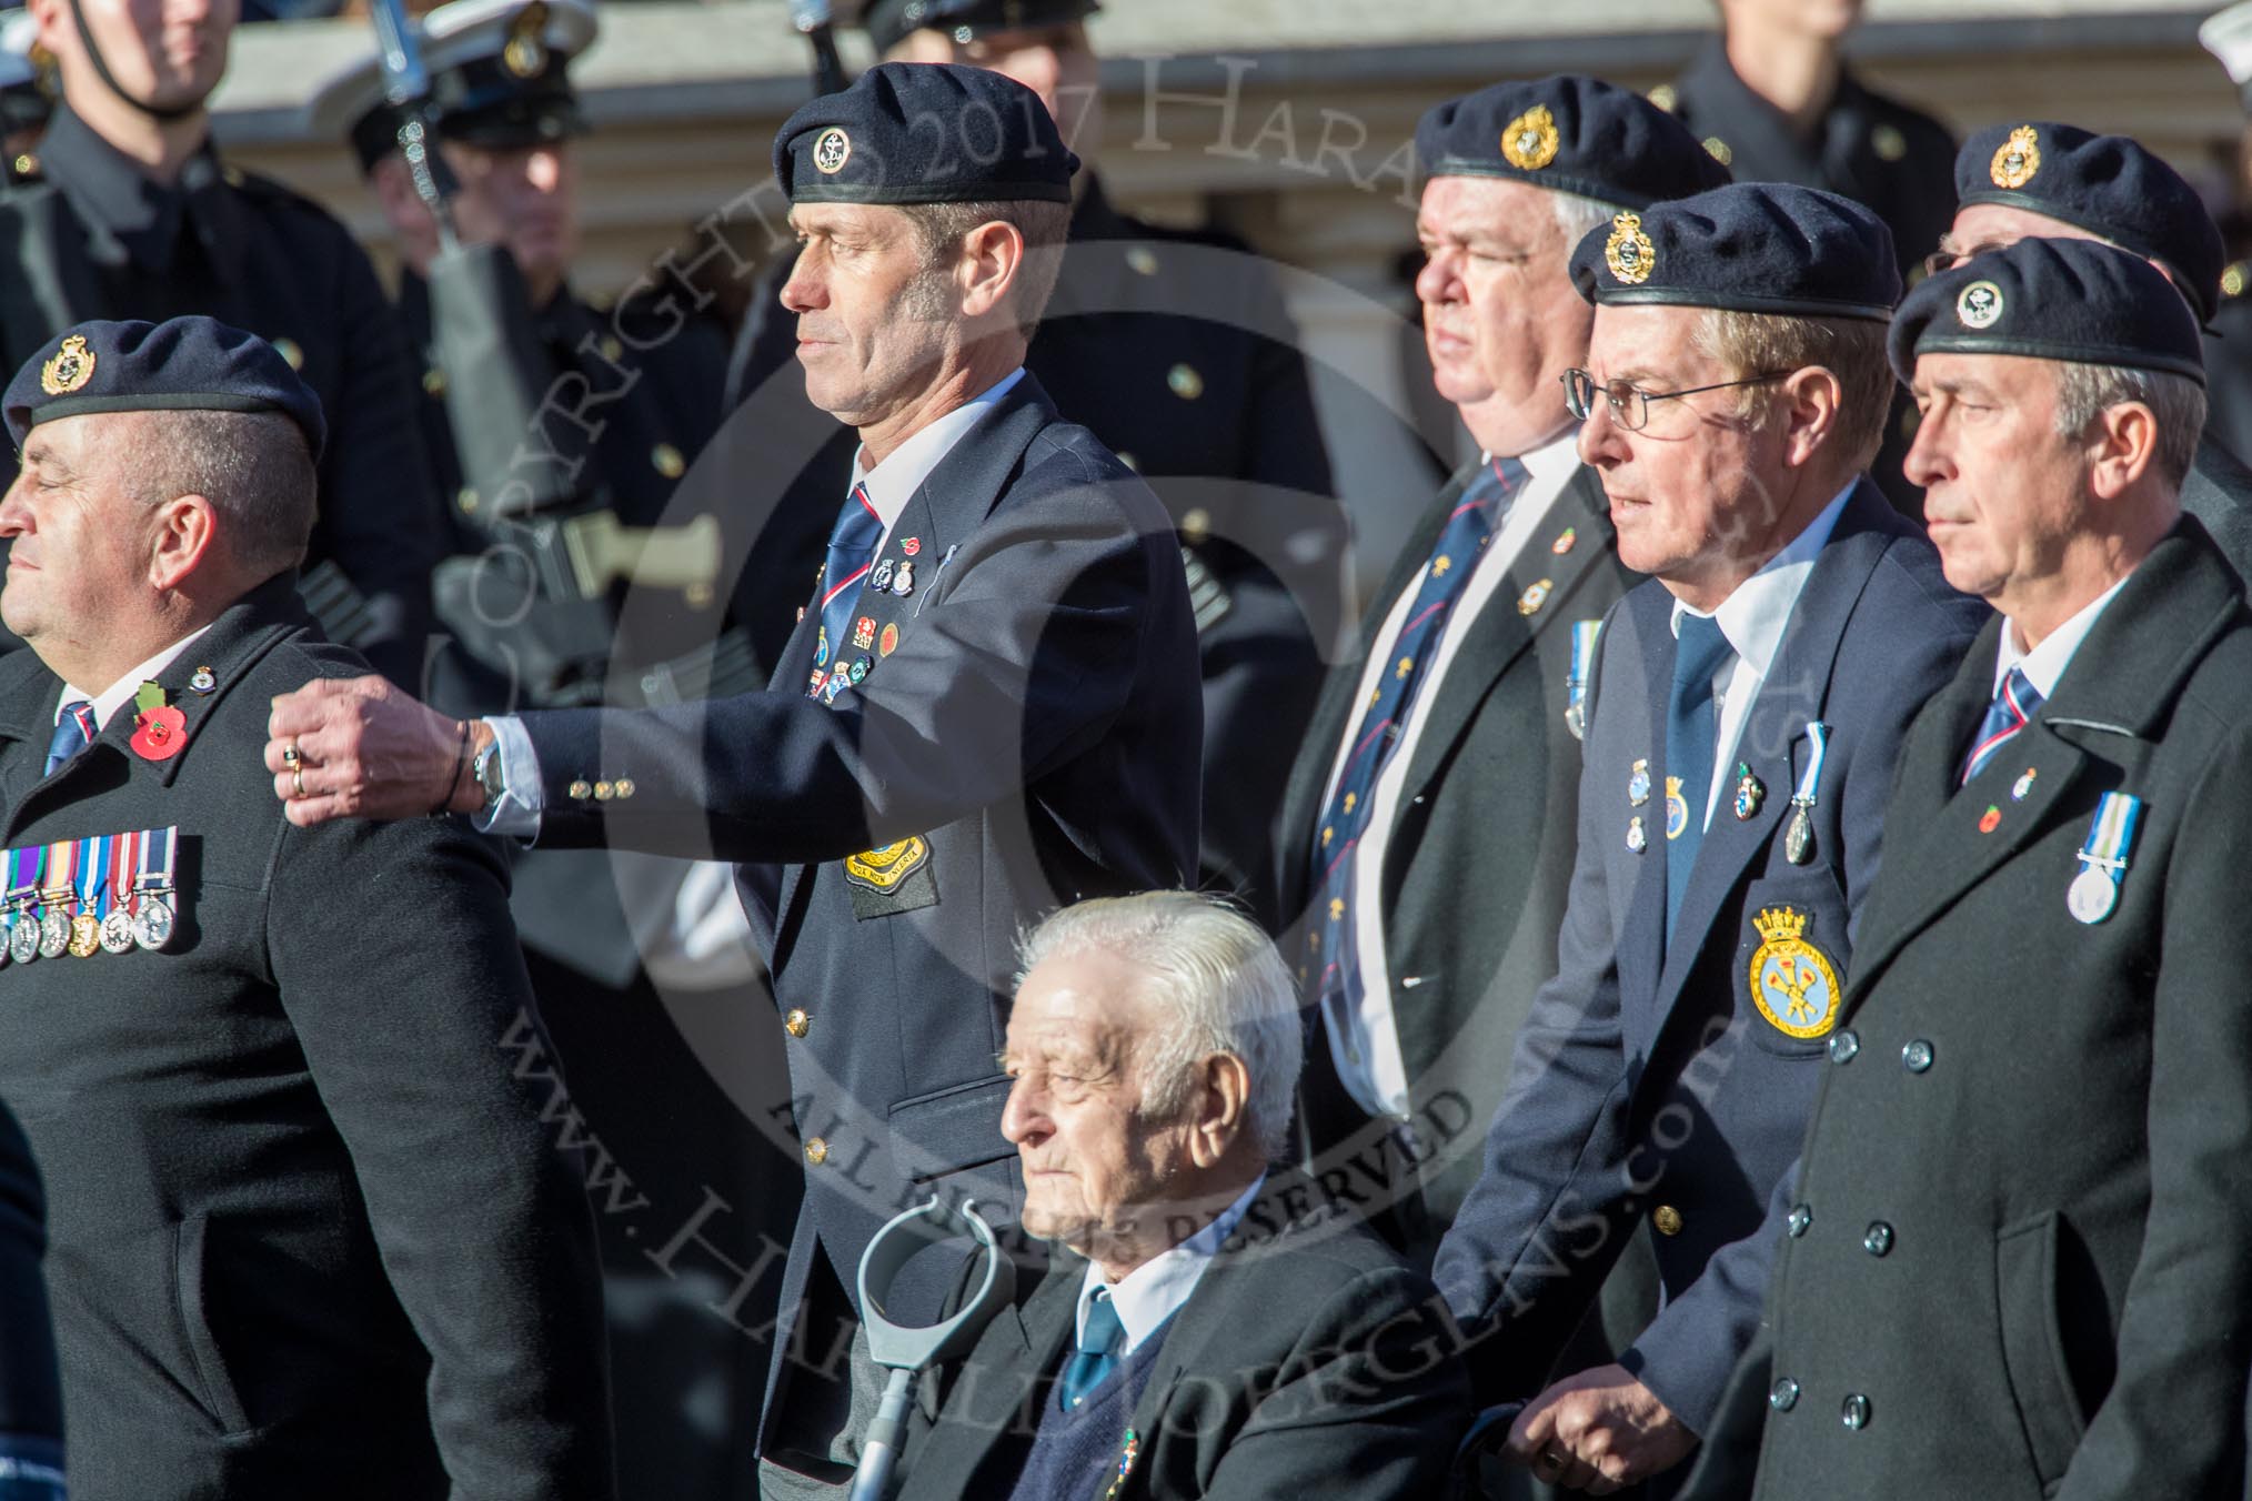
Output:
M385 677L315 677L282 693L266 736L275 797L300 828L484 808L471 763L491 743L491 725L464 729Z

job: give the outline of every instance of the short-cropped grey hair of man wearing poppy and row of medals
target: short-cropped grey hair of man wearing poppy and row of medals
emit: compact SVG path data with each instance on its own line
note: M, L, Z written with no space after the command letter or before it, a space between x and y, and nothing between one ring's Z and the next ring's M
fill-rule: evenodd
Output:
M119 443L119 488L144 506L203 495L245 569L279 574L313 540L313 450L279 412L137 412Z

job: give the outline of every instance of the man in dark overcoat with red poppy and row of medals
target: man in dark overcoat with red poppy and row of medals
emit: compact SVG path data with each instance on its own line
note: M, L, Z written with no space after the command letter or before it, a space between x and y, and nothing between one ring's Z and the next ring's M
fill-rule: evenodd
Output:
M579 1163L489 842L297 828L272 695L313 392L214 324L81 324L7 389L9 1046L83 1501L613 1494Z

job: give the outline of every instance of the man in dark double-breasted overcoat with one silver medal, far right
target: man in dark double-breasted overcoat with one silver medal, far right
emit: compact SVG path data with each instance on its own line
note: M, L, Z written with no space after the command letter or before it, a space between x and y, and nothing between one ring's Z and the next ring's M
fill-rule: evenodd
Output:
M2130 254L2020 241L1892 353L1948 576L2002 619L1901 752L1730 1406L1759 1496L2234 1496L2252 614L2180 515L2198 326Z

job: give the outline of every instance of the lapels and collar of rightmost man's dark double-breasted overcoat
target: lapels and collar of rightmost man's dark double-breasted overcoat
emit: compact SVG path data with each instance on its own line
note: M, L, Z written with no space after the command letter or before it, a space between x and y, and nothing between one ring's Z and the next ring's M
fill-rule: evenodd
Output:
M1993 698L2007 621L1998 617L1980 632L1948 693L1910 736L1896 806L1885 819L1887 839L1903 839L1887 844L1885 869L1914 871L1914 880L1878 880L1878 893L1896 891L1901 900L1871 907L1840 1024L1912 936L2052 826L2097 754L2117 758L2117 749L2097 749L2101 740L2117 745L2117 736L2148 738L2157 729L2214 637L2243 608L2236 574L2205 527L2184 515L2103 608L2034 722L1968 788L1957 788L1970 736ZM2031 781L2022 781L2027 770Z

